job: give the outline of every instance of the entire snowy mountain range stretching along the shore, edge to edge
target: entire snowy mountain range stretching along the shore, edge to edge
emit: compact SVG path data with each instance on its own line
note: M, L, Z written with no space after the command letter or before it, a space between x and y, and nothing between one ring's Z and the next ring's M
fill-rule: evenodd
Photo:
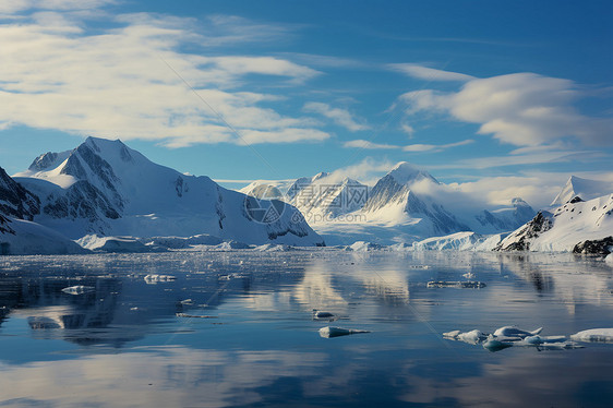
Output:
M519 197L488 208L479 197L400 163L372 188L321 172L290 182L253 182L237 192L208 177L154 164L119 140L88 137L72 151L38 156L13 178L0 168L0 249L3 254L86 251L73 240L87 248L142 250L159 243L231 241L225 245L243 248L366 241L373 245L364 248L606 253L612 191L611 183L573 176L539 213Z

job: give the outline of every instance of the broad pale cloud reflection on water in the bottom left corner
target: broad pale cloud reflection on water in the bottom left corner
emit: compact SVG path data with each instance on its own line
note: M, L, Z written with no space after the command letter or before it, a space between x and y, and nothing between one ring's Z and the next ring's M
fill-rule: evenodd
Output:
M254 404L279 377L317 375L325 357L156 347L73 360L1 364L1 400L51 406L219 407ZM151 384L151 385L149 385Z

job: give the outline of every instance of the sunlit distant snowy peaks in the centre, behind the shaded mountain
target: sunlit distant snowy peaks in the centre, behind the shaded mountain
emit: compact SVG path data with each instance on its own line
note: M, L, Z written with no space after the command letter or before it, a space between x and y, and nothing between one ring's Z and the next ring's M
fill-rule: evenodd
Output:
M486 204L442 184L408 163L399 163L373 188L325 172L293 183L266 185L269 184L253 182L241 192L257 195L275 190L300 209L329 244L357 240L412 243L460 231L510 232L536 215L521 199L495 211L479 209ZM457 202L469 202L470 206L458 207Z

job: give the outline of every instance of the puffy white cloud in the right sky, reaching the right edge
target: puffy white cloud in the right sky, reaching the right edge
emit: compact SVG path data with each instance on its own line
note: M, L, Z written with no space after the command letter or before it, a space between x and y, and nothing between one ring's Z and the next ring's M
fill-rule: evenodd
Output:
M538 146L566 137L590 145L610 145L611 119L579 113L573 104L581 96L569 80L516 73L471 80L457 93L423 89L404 94L408 115L446 112L455 119L481 124L480 134L504 143Z

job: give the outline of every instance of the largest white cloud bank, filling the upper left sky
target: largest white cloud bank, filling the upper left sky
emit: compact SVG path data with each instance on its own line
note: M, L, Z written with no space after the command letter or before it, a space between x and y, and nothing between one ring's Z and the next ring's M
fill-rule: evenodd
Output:
M46 9L64 10L76 3L46 2ZM109 2L79 3L95 7ZM13 3L12 10L38 2L20 4ZM0 129L25 124L74 134L160 141L176 147L329 137L315 129L314 119L284 116L269 107L280 97L236 91L253 74L291 84L309 80L317 71L272 57L180 52L187 44L217 44L206 29L195 31L192 19L146 13L113 19L116 28L96 34L84 28L85 21L79 14L69 12L35 12L24 15L19 24L0 24ZM224 26L219 44L243 40L259 26L233 17L212 21ZM247 28L232 31L232 24L245 24ZM267 33L275 35L274 29Z

